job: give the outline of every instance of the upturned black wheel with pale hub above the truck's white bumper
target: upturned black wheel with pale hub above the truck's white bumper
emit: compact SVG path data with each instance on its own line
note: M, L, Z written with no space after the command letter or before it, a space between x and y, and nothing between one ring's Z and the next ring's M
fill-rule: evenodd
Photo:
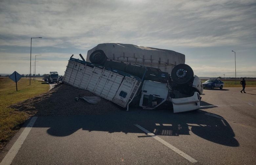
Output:
M179 64L172 70L172 80L177 84L186 84L194 76L194 72L187 64Z

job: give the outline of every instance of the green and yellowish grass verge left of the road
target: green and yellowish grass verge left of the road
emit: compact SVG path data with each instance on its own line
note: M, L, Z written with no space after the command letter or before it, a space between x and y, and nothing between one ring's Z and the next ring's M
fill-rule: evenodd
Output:
M0 150L30 117L27 113L15 111L9 106L49 90L48 84L36 80L29 85L29 79L25 78L17 82L17 87L18 91L15 82L10 78L0 77Z

